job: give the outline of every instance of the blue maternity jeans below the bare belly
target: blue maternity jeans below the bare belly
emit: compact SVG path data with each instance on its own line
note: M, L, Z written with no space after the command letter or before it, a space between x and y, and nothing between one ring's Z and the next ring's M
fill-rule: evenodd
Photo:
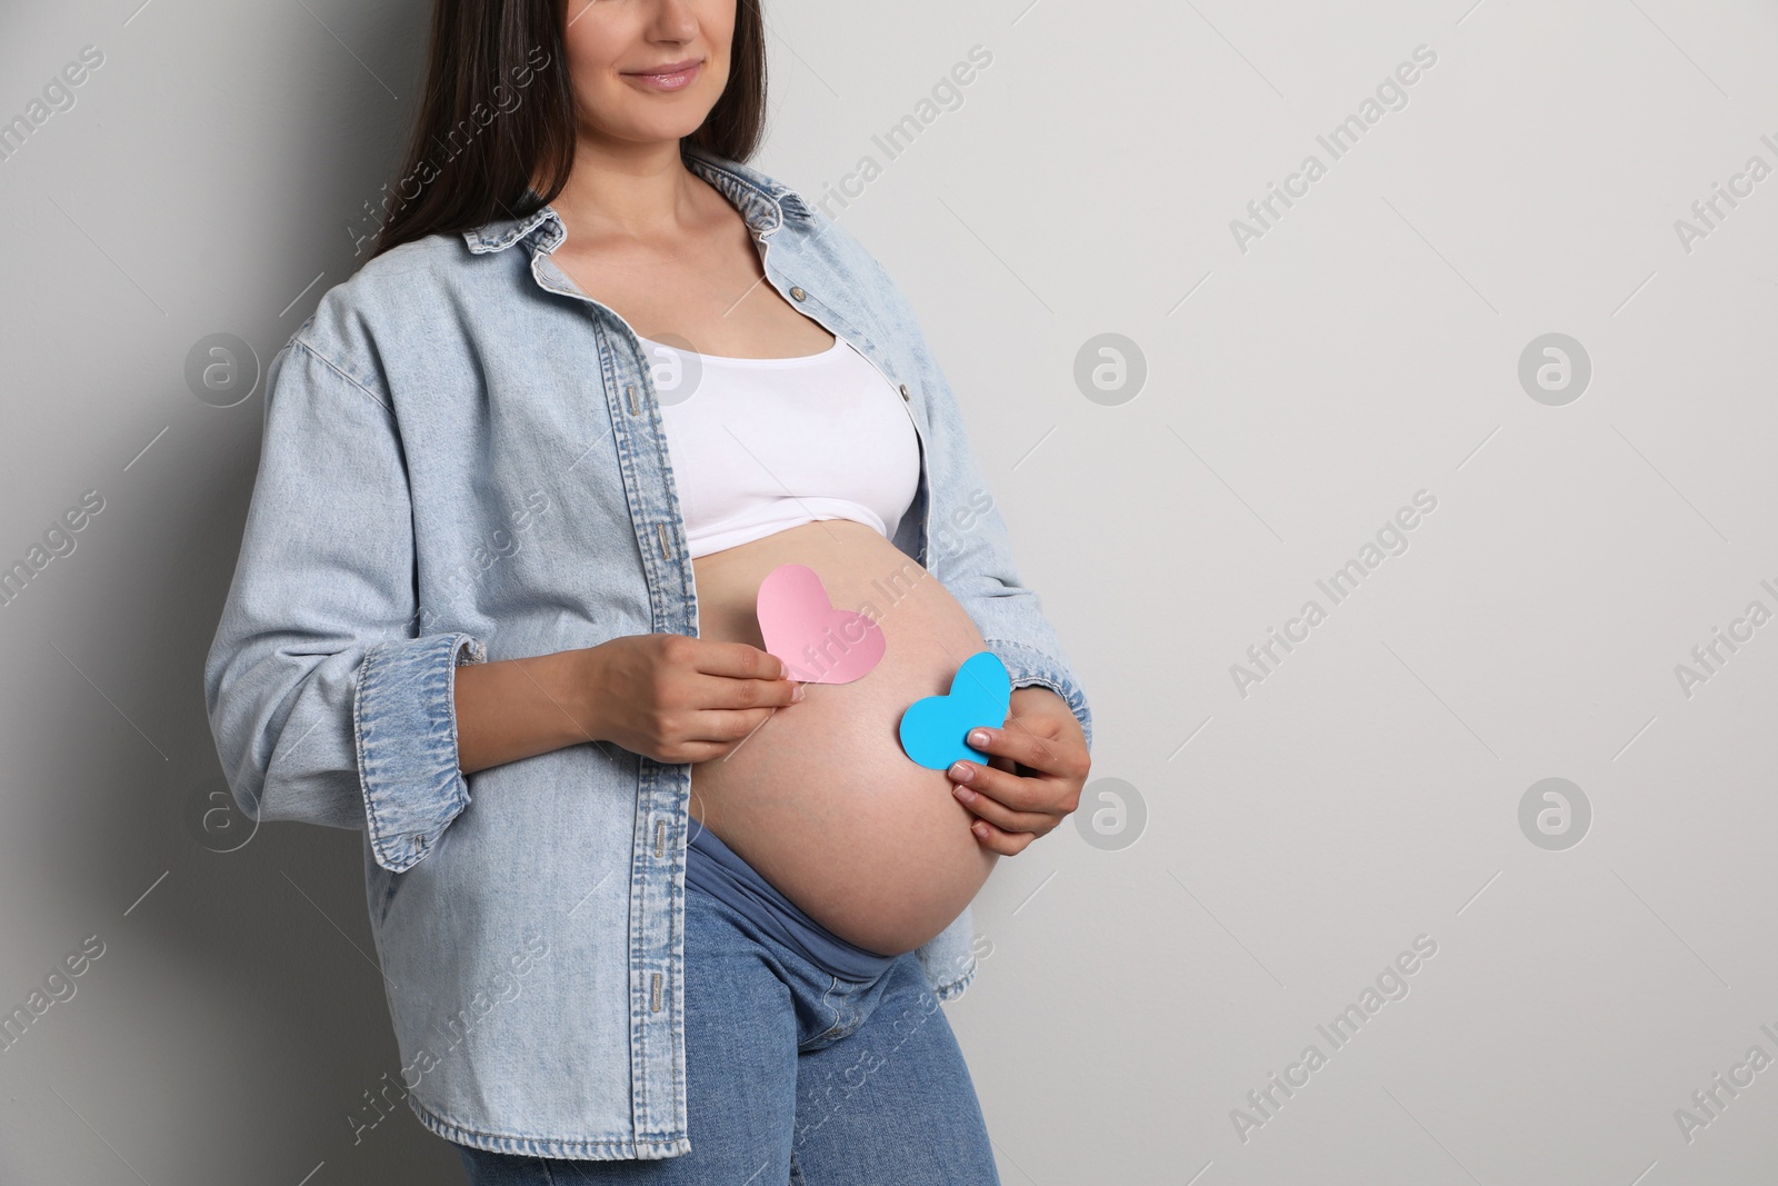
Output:
M692 1152L565 1161L457 1147L471 1186L999 1186L957 1037L907 953L850 982L686 889Z

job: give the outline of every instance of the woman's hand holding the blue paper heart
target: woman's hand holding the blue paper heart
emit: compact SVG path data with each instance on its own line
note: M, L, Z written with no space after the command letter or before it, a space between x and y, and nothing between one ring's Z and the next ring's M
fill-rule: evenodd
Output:
M946 770L951 793L981 816L976 839L1005 857L1054 830L1081 802L1092 757L1069 702L1049 688L1013 688L1006 724L971 729L969 745L989 765L957 761Z

